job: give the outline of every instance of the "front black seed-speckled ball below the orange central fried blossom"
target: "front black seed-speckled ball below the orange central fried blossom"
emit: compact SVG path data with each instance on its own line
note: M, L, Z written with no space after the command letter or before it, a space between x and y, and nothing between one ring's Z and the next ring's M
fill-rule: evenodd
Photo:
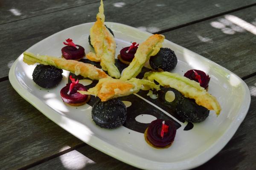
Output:
M119 99L107 102L98 100L92 109L92 119L99 127L113 129L125 123L127 110L125 104Z

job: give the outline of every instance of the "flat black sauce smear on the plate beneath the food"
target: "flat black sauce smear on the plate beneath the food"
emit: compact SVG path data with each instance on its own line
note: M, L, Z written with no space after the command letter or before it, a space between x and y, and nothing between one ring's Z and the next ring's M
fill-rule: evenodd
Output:
M81 59L80 62L90 63L95 65L97 68L101 68L100 62L93 62L93 61L90 61L89 59ZM125 65L124 63L120 62L118 59L116 59L115 65L119 69L120 73L124 68L128 67L128 65ZM148 72L148 71L151 71L151 69L143 67L142 71L136 78L142 79L145 72ZM76 76L73 73L70 73L70 75L72 75L72 77L75 77L75 79L89 79L89 78L84 78L81 75ZM86 88L87 89L93 88L94 86L96 86L97 83L98 83L98 80L93 80L93 82L90 85L87 85ZM181 119L177 115L175 110L167 109L167 107L163 103L161 103L158 99L151 99L149 96L147 96L148 91L140 90L137 94L142 96L144 99L147 99L148 101L154 103L155 105L162 108L163 110L167 111L170 115L174 116L180 122L185 122L183 119ZM91 96L91 99L89 102L87 102L87 104L90 106L93 106L93 104L98 99L99 99L98 97ZM177 129L181 127L179 122L176 122L174 119L166 115L166 113L163 113L158 108L155 108L153 105L150 105L148 102L145 102L143 99L139 98L138 96L135 96L134 94L131 94L129 96L122 96L122 97L119 97L118 99L122 101L129 101L132 103L131 106L127 108L127 119L125 124L123 125L124 127L127 127L130 130L134 130L139 133L145 132L146 128L150 123L141 123L135 120L135 118L141 114L152 115L152 116L155 116L157 119L170 120L175 124Z

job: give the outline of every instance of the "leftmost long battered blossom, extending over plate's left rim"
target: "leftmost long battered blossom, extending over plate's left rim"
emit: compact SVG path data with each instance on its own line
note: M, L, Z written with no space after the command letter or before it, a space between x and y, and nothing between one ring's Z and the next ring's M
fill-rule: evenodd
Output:
M102 79L109 77L104 71L91 64L78 62L71 59L67 60L63 58L40 56L30 52L24 52L23 55L23 62L27 63L28 65L33 65L36 62L44 65L53 65L57 68L70 71L76 75L80 74L83 77L89 77L90 79Z

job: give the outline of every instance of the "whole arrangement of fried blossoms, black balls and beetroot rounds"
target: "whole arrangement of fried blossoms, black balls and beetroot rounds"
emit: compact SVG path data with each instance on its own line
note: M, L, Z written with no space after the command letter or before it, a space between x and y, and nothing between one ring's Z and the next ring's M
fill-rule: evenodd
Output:
M184 75L171 73L179 62L175 51L163 47L163 35L154 34L140 44L133 42L131 46L122 48L118 59L115 59L114 34L104 22L101 1L88 37L94 51L87 54L70 37L63 42L66 46L61 49L61 58L24 52L23 62L40 64L33 71L33 81L42 88L53 88L61 82L62 69L70 71L69 82L60 91L63 102L77 107L93 97L90 105L93 106L91 116L95 125L108 129L124 125L144 133L145 142L155 148L171 146L180 125L173 119L157 118L146 127L137 128L133 124L138 122L131 120L133 113L127 111L122 96L148 91L143 97L150 98L153 103L161 103L159 107L167 108L176 119L189 122L190 127L186 130L193 127L192 123L207 119L209 110L217 115L221 112L216 98L207 92L211 88L208 85L210 77L204 71L193 69ZM146 62L151 69L144 67ZM79 79L85 78L93 83L90 86L80 84Z

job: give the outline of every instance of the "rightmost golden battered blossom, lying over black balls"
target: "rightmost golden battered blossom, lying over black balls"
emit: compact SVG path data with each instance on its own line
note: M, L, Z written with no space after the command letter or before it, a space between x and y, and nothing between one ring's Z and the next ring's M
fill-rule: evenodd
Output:
M144 78L150 81L156 80L162 86L169 85L171 88L177 89L185 97L195 99L198 105L204 106L208 110L214 110L217 115L221 111L221 106L217 99L202 88L198 82L180 76L179 74L166 71L147 72Z

